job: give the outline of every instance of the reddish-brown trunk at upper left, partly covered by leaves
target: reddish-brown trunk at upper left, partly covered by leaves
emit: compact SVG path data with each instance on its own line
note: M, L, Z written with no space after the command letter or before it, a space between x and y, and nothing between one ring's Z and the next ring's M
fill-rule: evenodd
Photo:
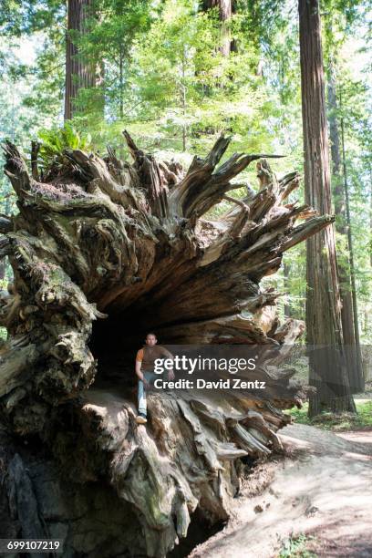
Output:
M87 33L87 18L92 0L68 0L66 35L65 120L77 111L78 92L96 85L95 65L82 55L77 41Z

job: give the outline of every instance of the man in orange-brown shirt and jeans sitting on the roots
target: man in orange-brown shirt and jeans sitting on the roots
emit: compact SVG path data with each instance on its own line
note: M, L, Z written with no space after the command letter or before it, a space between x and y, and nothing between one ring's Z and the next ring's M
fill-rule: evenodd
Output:
M139 414L137 417L138 424L147 422L147 402L146 389L151 387L157 375L154 372L154 363L157 358L171 358L173 355L164 346L157 345L158 339L154 333L148 333L145 340L145 346L141 348L136 356L136 375L139 378L138 402ZM174 379L173 370L168 372L169 379Z

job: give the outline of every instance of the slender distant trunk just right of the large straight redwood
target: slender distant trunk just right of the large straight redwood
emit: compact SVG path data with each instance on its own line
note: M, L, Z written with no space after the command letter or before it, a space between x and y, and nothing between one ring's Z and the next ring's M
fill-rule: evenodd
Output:
M354 253L350 229L346 165L342 164L340 134L337 123L335 67L331 63L328 79L328 120L331 140L332 171L334 179L336 232L347 241L347 256L339 260L338 271L341 296L341 320L346 346L346 366L353 393L364 390L362 357L359 343L359 326L356 306ZM344 150L343 150L344 156ZM344 170L344 171L343 171ZM346 209L347 196L347 209Z

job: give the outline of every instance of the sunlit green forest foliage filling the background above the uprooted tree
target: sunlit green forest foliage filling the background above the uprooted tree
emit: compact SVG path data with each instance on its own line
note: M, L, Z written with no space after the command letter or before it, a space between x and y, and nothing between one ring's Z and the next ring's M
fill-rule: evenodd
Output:
M79 91L78 113L61 129L66 3L5 0L0 14L0 136L29 150L38 130L40 160L58 164L63 150L103 152L109 144L128 158L122 129L144 150L181 160L205 154L224 131L231 150L286 155L272 163L278 175L303 169L298 15L292 0L233 2L233 50L220 51L216 9L195 0L93 0L85 33L71 39L96 68L97 84ZM345 124L346 171L355 246L361 337L372 341L371 84L368 80L368 0L324 0L325 68L336 69L338 122ZM10 47L9 47L10 45ZM29 57L29 54L32 54ZM50 130L50 131L47 131ZM91 141L88 141L88 133ZM231 154L229 151L226 155ZM257 188L254 165L241 177ZM245 189L233 195L243 197ZM9 185L0 174L2 211L12 212ZM304 202L300 187L288 202ZM231 206L213 209L218 217ZM359 233L362 231L363 233ZM337 238L346 262L345 238ZM281 317L305 319L305 244L284 254L284 267L266 283L286 293Z

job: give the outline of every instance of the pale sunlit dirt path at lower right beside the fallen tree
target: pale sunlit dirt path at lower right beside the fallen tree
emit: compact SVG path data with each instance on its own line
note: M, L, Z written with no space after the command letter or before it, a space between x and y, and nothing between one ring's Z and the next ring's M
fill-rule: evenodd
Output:
M372 557L372 431L281 432L286 457L248 480L235 519L190 558L272 558L291 533L315 536L317 556ZM268 485L248 498L264 474Z

